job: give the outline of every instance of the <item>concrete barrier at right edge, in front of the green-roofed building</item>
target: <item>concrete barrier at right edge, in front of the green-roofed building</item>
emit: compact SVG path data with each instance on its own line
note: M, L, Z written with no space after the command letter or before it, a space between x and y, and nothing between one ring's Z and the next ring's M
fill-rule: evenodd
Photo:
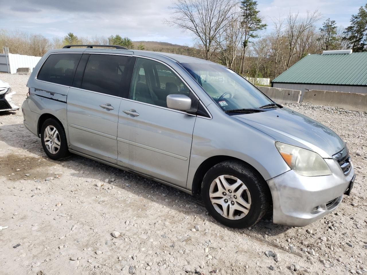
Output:
M310 90L305 91L303 101L352 111L367 111L367 94Z

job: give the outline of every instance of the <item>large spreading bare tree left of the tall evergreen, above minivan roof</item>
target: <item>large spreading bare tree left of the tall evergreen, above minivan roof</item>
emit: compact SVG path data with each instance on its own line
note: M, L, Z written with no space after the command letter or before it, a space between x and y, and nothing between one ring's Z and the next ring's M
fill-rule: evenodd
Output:
M211 60L215 38L228 26L236 4L235 0L176 0L166 23L193 33L203 46L204 58Z

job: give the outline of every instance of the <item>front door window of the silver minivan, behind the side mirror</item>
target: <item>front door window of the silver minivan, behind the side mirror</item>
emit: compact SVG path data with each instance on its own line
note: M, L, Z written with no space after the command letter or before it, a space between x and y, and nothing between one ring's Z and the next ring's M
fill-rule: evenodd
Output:
M182 80L162 63L138 58L130 91L130 99L167 107L167 95L190 96Z

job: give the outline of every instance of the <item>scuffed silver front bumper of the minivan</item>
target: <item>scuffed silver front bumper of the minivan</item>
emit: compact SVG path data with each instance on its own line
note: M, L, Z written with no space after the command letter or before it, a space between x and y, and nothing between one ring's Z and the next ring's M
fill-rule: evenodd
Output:
M289 170L268 180L273 198L273 222L305 226L335 210L349 188L354 169L348 176L334 159L325 159L332 175L306 177Z

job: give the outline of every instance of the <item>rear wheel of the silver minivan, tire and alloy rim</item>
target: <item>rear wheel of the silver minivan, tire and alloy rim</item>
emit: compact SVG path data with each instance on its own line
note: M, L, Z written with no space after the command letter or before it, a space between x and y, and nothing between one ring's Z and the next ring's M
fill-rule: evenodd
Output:
M62 159L69 155L65 130L54 118L45 120L41 127L41 142L45 153L51 159Z

